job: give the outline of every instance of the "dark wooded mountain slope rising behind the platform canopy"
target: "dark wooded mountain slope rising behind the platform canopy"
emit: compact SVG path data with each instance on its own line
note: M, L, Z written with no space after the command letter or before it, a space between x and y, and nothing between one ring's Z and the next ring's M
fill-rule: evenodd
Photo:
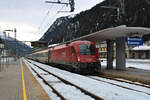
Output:
M150 2L150 0L125 0L125 14L117 16L116 9L106 9L102 6L120 8L120 0L105 0L73 18L69 16L58 18L40 40L49 44L59 43L119 25L150 27L148 1Z

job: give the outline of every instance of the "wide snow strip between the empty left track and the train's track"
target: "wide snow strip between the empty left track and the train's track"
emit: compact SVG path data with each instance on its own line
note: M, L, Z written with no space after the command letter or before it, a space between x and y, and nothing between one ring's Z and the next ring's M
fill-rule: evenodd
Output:
M34 61L32 61L34 62ZM105 100L149 100L150 95L140 93L128 89L124 89L118 86L114 86L108 83L96 81L85 76L73 74L64 70L60 70L48 65L44 65L38 62L34 62L40 67L64 78L65 80L74 83L87 91L90 91L97 96L102 97ZM62 88L63 89L63 88ZM141 88L137 87L137 90ZM80 99L81 100L81 99Z

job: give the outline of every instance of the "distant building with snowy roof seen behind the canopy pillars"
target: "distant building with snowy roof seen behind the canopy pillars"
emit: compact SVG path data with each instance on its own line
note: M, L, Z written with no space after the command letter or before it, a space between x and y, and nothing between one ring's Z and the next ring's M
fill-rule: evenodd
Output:
M107 44L103 42L98 46L100 58L107 58ZM114 58L116 57L116 44L114 43ZM126 45L126 58L133 59L150 59L150 42L146 42L143 46L129 47Z

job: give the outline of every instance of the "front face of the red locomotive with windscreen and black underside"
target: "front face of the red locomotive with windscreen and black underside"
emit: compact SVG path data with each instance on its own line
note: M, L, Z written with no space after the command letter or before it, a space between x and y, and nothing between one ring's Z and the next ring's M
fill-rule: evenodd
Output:
M82 42L77 45L77 61L82 73L100 72L101 64L98 51L93 42Z

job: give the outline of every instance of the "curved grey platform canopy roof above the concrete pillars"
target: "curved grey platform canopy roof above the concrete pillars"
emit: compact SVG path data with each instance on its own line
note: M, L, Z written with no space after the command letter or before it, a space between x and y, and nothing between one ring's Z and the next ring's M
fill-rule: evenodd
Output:
M89 35L79 37L75 40L89 40L93 42L101 42L105 40L115 40L118 37L126 36L144 36L150 34L150 28L144 27L126 27L125 25L107 28Z

